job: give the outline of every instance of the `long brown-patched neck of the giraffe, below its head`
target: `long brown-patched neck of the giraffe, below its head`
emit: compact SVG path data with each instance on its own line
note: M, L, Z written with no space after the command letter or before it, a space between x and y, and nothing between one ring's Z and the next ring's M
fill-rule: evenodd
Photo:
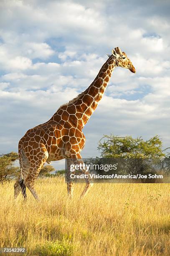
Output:
M80 123L81 128L83 128L104 95L107 84L109 83L115 67L116 60L112 55L101 67L99 74L96 76L91 85L74 100L71 100L66 105L61 106L61 108L59 108L53 115L53 119L58 120L57 114L61 109L67 109L66 111L70 113L71 118L74 119L73 114L75 113L73 113L73 109L76 108L76 118L79 119L78 123Z

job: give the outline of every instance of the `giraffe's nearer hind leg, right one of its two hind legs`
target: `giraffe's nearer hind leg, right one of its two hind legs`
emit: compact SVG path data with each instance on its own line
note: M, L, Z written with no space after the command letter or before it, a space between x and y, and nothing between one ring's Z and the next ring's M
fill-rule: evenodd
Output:
M35 159L30 160L30 170L23 183L26 187L28 187L31 194L36 200L39 200L39 198L34 188L34 184L35 184L36 178L38 177L39 172L41 171L41 168L43 167L47 159L48 159L48 152L44 150L43 152L40 151L36 155L36 161Z

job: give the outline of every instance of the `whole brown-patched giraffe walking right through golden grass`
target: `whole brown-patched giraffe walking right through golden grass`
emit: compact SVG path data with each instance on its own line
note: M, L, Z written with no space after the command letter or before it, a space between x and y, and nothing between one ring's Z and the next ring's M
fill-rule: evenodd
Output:
M14 197L20 191L26 199L26 187L33 197L38 200L34 188L38 174L47 162L66 159L67 163L67 192L73 196L73 182L70 177L71 163L83 163L81 150L85 145L85 136L82 132L90 116L96 109L106 90L107 84L115 67L123 67L135 73L132 62L119 47L107 54L109 59L101 67L91 85L76 98L61 105L54 115L46 122L28 130L18 143L20 175L14 184ZM86 170L84 170L85 172ZM86 186L81 196L86 195L93 185L86 172Z

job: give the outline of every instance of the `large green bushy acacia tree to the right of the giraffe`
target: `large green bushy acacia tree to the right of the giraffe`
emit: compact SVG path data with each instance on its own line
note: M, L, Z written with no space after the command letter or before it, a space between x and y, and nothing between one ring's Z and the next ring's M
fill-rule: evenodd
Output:
M99 141L98 150L103 158L116 158L121 172L130 174L152 173L165 157L159 136L144 141L142 137L105 135Z

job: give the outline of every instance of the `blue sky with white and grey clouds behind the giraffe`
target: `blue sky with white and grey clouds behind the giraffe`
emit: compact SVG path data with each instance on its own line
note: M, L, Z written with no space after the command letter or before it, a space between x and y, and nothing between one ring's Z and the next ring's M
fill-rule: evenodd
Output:
M136 74L114 69L82 157L111 133L170 147L169 13L169 0L0 0L0 154L89 87L117 46Z

